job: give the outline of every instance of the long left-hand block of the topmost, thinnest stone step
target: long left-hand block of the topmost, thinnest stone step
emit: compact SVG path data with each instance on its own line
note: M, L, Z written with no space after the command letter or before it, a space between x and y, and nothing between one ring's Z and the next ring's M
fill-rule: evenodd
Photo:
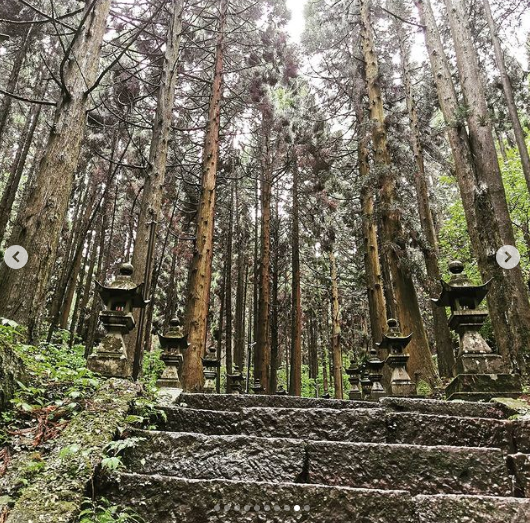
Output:
M192 409L241 410L251 407L276 407L291 409L367 409L378 408L369 401L343 401L294 396L261 396L256 394L190 394L179 396L178 404Z

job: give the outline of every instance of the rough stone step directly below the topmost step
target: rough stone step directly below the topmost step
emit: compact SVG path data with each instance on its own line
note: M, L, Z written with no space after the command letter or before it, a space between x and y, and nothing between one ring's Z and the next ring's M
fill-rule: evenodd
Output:
M273 409L240 411L167 408L164 430L208 435L325 441L492 447L514 450L512 421L461 418L383 409ZM530 434L530 430L528 430ZM524 445L523 445L524 447Z

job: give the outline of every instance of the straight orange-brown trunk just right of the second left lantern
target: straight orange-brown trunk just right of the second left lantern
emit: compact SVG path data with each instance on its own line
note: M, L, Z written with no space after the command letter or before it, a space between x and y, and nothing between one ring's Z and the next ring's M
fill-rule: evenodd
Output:
M203 387L202 357L206 351L210 285L212 281L215 189L219 162L219 131L223 93L223 65L228 0L221 0L215 71L204 141L201 194L197 216L195 252L190 268L190 283L186 308L186 331L190 344L182 365L182 385L186 391Z

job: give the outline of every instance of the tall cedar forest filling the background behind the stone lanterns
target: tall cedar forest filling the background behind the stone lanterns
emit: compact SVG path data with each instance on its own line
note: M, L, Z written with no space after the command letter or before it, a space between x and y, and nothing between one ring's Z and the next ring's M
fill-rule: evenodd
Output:
M177 318L187 390L212 348L223 380L342 398L395 318L435 387L460 260L525 373L528 7L307 0L297 41L286 0L2 2L0 241L28 261L1 265L0 317L89 357L121 267L143 304L125 377Z

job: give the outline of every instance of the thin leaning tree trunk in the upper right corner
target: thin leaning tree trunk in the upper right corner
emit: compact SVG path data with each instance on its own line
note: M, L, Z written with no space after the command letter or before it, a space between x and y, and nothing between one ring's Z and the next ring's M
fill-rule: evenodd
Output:
M515 104L512 82L504 62L504 53L502 52L502 46L499 40L499 29L493 18L489 0L483 0L483 2L484 13L486 14L486 20L488 21L488 26L490 29L491 41L493 42L493 49L495 51L495 62L497 63L497 68L501 73L502 88L504 90L504 96L506 97L506 106L508 107L508 114L510 115L513 132L515 134L515 141L517 142L517 148L519 149L519 154L521 156L521 166L526 179L526 185L530 191L530 155L528 154L528 148L526 146L526 137L521 125L521 121L519 120L519 113L517 111L517 105ZM500 140L499 143L501 143Z

